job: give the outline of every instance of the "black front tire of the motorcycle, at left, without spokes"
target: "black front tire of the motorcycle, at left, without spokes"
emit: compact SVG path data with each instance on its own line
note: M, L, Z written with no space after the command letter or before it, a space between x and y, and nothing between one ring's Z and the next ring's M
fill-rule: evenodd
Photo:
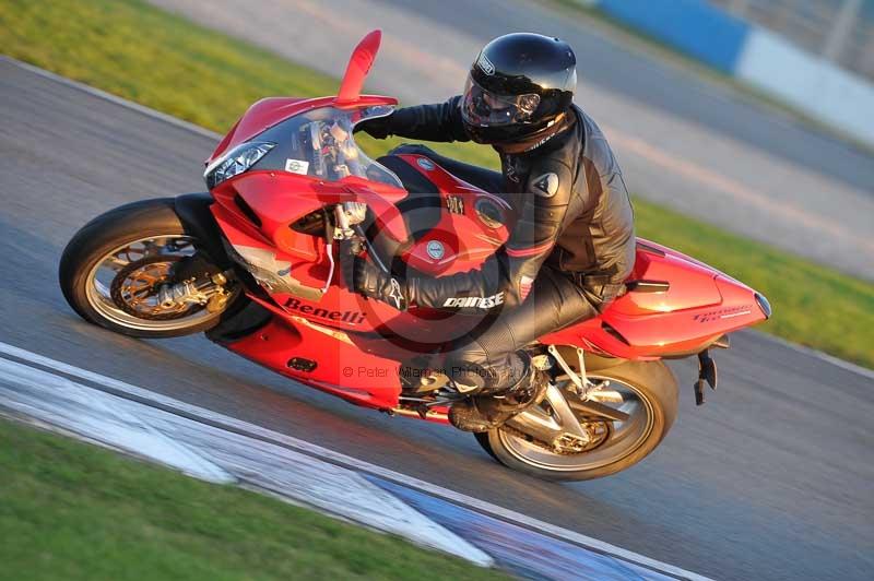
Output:
M95 290L95 271L116 249L150 238L186 240L197 247L197 240L186 233L176 215L174 200L162 198L122 205L97 216L80 229L61 256L58 278L67 303L86 321L123 335L163 339L206 331L221 321L224 313L240 308L243 296L232 299L223 312L205 310L179 317L178 320L139 322L134 316L119 309L114 316L113 298Z

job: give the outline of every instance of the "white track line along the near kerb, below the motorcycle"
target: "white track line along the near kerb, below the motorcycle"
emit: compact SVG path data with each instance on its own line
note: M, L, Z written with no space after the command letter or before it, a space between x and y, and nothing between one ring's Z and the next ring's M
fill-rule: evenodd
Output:
M401 474L399 472L394 472L385 469L382 466L378 466L376 464L370 464L369 462L366 462L364 460L359 460L357 458L335 452L328 448L322 448L321 446L310 443L308 441L300 440L298 438L294 438L285 434L280 434L273 430L269 430L267 428L262 428L260 426L256 426L255 424L249 424L247 422L225 416L223 414L218 414L202 407L198 407L196 405L187 404L185 402L180 402L178 400L161 395L160 393L151 392L149 390L139 388L137 386L132 386L130 383L120 381L118 379L102 376L99 374L95 374L94 371L88 371L86 369L81 369L79 367L62 361L50 359L43 355L38 355L28 352L26 349L22 349L20 347L15 347L14 345L9 345L7 343L0 342L0 353L7 354L9 356L19 359L34 363L42 367L55 369L56 371L60 371L64 375L86 380L97 386L102 386L104 388L107 388L110 393L114 393L116 395L121 395L121 396L127 395L129 398L133 398L135 401L139 401L141 403L156 405L163 410L174 412L177 414L182 414L191 418L197 418L201 422L223 427L224 429L228 429L231 431L236 431L238 434L243 434L252 438L258 438L263 441L276 443L280 446L285 446L298 452L303 452L319 458L321 460L326 460L361 472L366 472L368 474L379 476L387 481L409 486L422 493L436 496L438 498L442 498L445 500L449 500L451 502L456 502L458 505L477 510L482 513L505 520L507 522L512 522L525 526L528 529L547 534L555 538L560 538L563 541L574 543L576 545L586 547L588 549L598 553L611 555L613 557L626 560L631 564L640 565L642 567L647 567L659 572L668 573L682 579L690 579L690 580L707 579L706 577L699 576L697 573L693 573L690 571L686 571L678 567L674 567L672 565L656 559L651 559L642 555L638 555L630 550L626 550L615 545L604 543L602 541L592 538L590 536L586 536L575 531L562 529L554 524L550 524L547 522L533 519L520 512L508 510L497 505L493 505L484 500L479 500L476 498L472 498L466 495L456 493L454 490L450 490L448 488L444 488L430 484L428 482L421 481L418 478L414 478L412 476L408 476L405 474Z

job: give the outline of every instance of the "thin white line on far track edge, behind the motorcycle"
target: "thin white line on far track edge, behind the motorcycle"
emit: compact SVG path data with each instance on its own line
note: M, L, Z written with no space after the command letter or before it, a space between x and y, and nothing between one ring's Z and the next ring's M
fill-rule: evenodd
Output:
M173 117L170 115L161 112L161 111L152 109L150 107L145 107L144 105L140 105L139 103L133 103L132 100L128 100L128 99L126 99L123 97L119 97L117 95L113 95L111 93L107 93L105 91L101 91L99 88L95 88L95 87L93 87L91 85L86 85L84 83L80 83L78 81L73 81L71 79L67 79L66 76L61 76L61 75L56 74L54 72L47 71L45 69L40 69L39 67L34 67L33 64L28 64L26 62L22 62L20 60L13 59L12 57L8 57L5 55L0 55L0 61L9 62L11 64L14 64L15 67L20 67L22 69L31 71L34 74L37 74L39 76L43 76L43 78L48 79L50 81L54 81L56 83L60 83L62 85L67 85L67 86L76 88L76 90L82 91L84 93L87 93L90 95L94 95L95 97L99 97L99 98L108 100L110 103L115 103L116 105L120 105L122 107L127 107L129 109L133 109L133 110L135 110L138 112L141 112L141 114L145 115L145 116L153 117L155 119L160 119L160 120L162 120L164 122L167 122L167 123L169 123L172 126L175 126L175 127L178 127L178 128L181 128L181 129L187 129L187 130L189 130L189 131L191 131L193 133L197 133L199 135L203 135L203 137L206 137L206 138L210 138L210 139L214 139L216 141L222 139L222 135L220 135L218 133L216 133L214 131L210 131L209 129L204 129L204 128L202 128L200 126L196 126L194 123L189 123L188 121L184 121L184 120L178 119L176 117ZM865 378L869 378L869 379L874 379L874 370L872 370L872 369L867 369L865 367L861 367L861 366L855 365L855 364L850 363L850 361L845 361L843 359L839 359L839 358L837 358L837 357L835 357L832 355L828 355L827 353L823 353L820 351L816 351L816 349L813 349L811 347L805 347L805 346L802 346L802 345L798 345L795 343L791 343L791 342L786 341L786 340L780 339L780 337L776 337L776 336L772 336L772 335L767 335L765 333L761 333L760 331L751 330L749 332L761 335L766 341L770 341L770 342L776 343L778 345L781 345L783 347L789 347L789 348L794 349L794 351L796 351L799 353L803 353L805 355L810 355L810 356L816 357L816 358L822 359L822 360L824 360L826 363L829 363L831 365L840 367L841 369L846 369L848 371L852 371L854 374L858 374L858 375L860 375L862 377L865 377Z

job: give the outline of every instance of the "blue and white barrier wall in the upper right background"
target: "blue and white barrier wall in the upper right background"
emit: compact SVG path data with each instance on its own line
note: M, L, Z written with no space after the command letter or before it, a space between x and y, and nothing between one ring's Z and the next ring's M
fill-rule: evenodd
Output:
M704 0L587 0L612 19L874 145L874 85Z

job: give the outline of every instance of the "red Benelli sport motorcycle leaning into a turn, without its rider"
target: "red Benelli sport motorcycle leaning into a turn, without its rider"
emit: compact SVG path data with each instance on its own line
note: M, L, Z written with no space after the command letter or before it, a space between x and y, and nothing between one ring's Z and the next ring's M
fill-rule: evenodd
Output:
M440 351L495 297L399 311L351 292L338 246L430 276L476 268L515 216L499 197L421 155L370 159L353 128L397 99L361 95L379 47L367 35L334 97L252 105L206 161L210 193L144 200L86 224L60 263L87 321L138 337L206 331L227 349L352 403L446 423L463 395ZM712 347L770 316L765 297L680 252L638 240L627 293L601 316L529 346L554 381L542 403L476 435L496 460L552 479L624 470L664 438L677 382L664 359L697 356L698 403L716 388Z

